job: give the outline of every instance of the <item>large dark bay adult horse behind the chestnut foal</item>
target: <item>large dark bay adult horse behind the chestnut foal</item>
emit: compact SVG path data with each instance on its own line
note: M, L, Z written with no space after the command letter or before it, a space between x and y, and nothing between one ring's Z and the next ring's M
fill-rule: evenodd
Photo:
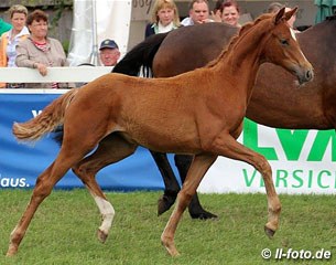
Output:
M221 46L238 29L225 23L184 26L170 33L156 34L134 46L113 68L138 75L140 66L152 68L154 77L174 76L202 67L215 59ZM265 126L289 129L336 128L336 17L296 35L316 77L305 89L296 89L293 77L275 65L261 66L247 117ZM158 212L174 203L178 182L165 153L152 152L164 179L165 191ZM192 157L175 156L181 180L184 182ZM197 193L188 206L193 218L214 215L199 204Z

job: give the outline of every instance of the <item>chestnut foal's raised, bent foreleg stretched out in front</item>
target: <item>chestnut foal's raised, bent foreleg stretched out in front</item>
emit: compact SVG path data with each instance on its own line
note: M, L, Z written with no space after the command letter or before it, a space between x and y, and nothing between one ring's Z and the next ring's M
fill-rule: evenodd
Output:
M246 161L261 173L267 191L269 212L268 223L264 226L264 231L268 236L273 236L279 227L281 203L274 188L272 169L268 160L260 153L239 144L229 135L220 135L220 137L214 141L210 149L221 156Z

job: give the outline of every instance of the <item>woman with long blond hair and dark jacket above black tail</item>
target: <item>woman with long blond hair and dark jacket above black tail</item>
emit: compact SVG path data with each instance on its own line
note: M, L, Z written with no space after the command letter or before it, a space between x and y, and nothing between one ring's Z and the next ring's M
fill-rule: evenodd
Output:
M152 20L145 26L144 38L165 33L180 26L178 11L173 0L156 0L152 9Z

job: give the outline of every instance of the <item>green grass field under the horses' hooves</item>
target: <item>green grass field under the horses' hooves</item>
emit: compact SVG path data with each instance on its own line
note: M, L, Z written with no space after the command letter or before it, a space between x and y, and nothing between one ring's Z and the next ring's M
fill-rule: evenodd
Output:
M185 213L175 236L182 255L172 258L160 243L171 213L156 216L160 194L107 193L116 218L106 244L101 244L96 239L99 212L88 192L54 191L37 210L18 255L8 258L10 232L31 191L1 190L0 264L336 264L335 195L280 195L280 230L269 240L263 232L264 194L200 194L206 209L219 219L192 220ZM263 248L272 251L270 259L261 257ZM292 248L294 256L301 250L315 254L324 248L332 258L277 261L277 248Z

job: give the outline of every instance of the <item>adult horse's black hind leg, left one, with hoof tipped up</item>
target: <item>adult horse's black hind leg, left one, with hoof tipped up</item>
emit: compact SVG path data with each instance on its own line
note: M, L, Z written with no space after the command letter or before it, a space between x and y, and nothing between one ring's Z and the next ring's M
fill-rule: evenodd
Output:
M176 180L174 171L170 165L170 161L164 152L151 151L152 157L161 172L164 182L164 194L158 201L158 215L170 210L174 204L177 193L180 191L180 184Z

